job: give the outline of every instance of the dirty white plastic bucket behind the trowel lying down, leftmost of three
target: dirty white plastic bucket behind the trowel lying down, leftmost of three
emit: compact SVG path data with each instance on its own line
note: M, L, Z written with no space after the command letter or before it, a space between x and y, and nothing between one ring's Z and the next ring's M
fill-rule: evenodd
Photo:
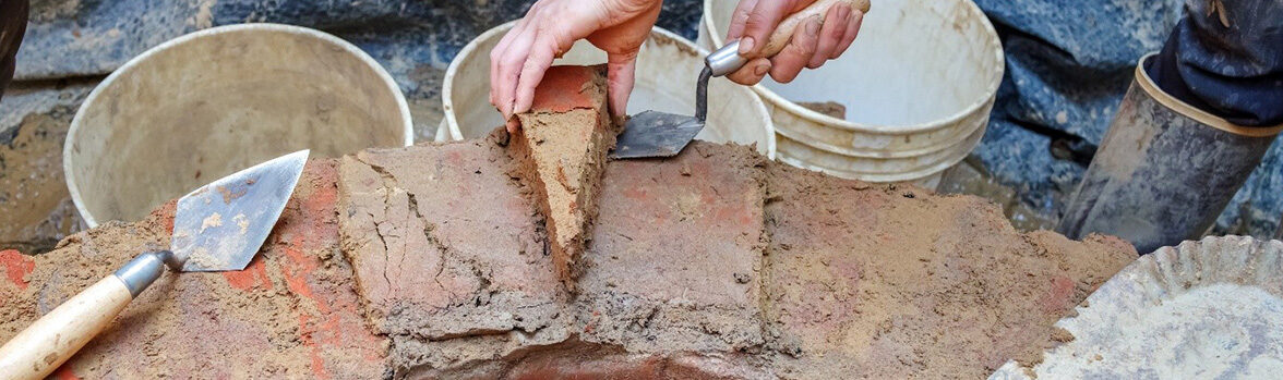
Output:
M95 226L293 151L412 142L405 99L370 55L319 31L237 24L162 44L106 77L72 120L63 169Z

